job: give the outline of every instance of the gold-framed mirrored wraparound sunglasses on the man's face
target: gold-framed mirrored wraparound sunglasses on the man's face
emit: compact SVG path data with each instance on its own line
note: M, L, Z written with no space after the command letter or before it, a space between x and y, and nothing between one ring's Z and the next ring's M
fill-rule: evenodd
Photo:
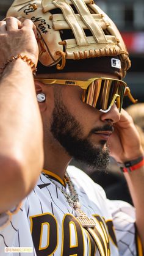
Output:
M126 82L112 78L91 78L87 81L35 78L43 84L62 84L66 86L79 86L84 89L81 100L102 112L108 112L115 103L121 111L124 96L128 96L132 103L137 100L131 95Z

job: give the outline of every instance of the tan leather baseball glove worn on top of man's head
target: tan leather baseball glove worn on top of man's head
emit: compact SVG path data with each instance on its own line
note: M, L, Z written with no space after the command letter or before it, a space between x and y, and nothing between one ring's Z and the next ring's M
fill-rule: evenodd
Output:
M56 9L59 12L54 13ZM62 65L57 65L62 69L67 59L120 56L123 76L131 67L120 32L92 0L15 0L7 16L23 16L35 23L43 65L49 67L62 60ZM62 31L67 29L73 31L74 38L62 40ZM85 29L91 32L90 36Z

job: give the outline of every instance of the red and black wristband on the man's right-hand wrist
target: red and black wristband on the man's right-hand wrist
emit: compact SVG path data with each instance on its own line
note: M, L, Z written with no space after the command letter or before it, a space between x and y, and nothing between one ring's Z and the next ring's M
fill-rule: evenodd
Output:
M140 167L144 166L144 156L140 156L137 159L132 161L124 162L123 164L118 163L122 172L133 172L133 170L137 170Z

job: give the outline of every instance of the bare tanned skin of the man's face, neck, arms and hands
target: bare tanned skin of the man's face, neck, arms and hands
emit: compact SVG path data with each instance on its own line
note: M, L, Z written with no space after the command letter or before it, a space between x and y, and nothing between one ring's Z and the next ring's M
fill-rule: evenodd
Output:
M29 29L23 29L24 26L18 23L18 21L16 23L15 18L9 18L6 23L4 22L0 23L0 42L2 42L0 45L0 56L4 54L0 64L4 63L9 56L18 53L27 54L37 63L38 50L32 23L25 21L24 24L27 24ZM7 30L5 26L7 26ZM21 37L23 37L23 40L21 40ZM19 41L20 45L18 47ZM12 46L10 46L11 43ZM22 70L24 70L24 73ZM95 76L113 77L107 73L69 73L53 75L53 78L83 80ZM52 78L52 75L48 75L48 78ZM43 140L42 122L35 97L31 68L23 63L22 60L16 60L16 62L7 65L4 73L2 73L0 86L0 95L2 95L0 97L0 193L4 197L2 197L0 202L1 212L19 203L34 188L43 166L42 144L44 144L45 154L44 168L51 170L59 175L59 177L63 178L68 163L71 160L71 157L65 152L62 145L54 139L50 130L52 112L54 110L54 90L56 90L54 88L56 86L46 86L40 82L35 84L37 93L43 92L46 94L46 101L39 103L43 122ZM61 91L62 101L68 111L81 124L82 137L87 137L93 128L97 126L103 127L104 124L109 123L115 126L115 130L109 137L108 143L110 153L117 161L123 163L143 155L139 134L131 117L126 112L122 111L120 116L115 104L109 112L103 113L82 103L80 97L82 89L79 87L57 86L57 90ZM7 108L7 106L12 106L12 108ZM5 117L8 115L9 119L6 119ZM106 146L101 145L100 142L101 137L106 135L105 133L102 131L101 134L92 134L90 136L90 142L92 142L94 147L103 147L103 150L105 150ZM29 141L31 141L31 145ZM144 204L144 167L137 169L131 174L125 174L125 177L136 208L137 229L144 245L144 219L142 211L142 205Z

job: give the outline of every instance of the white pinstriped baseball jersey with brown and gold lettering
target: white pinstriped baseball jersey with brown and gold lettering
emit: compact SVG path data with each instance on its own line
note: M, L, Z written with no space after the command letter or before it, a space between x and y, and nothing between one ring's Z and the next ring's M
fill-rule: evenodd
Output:
M70 193L68 186L63 186L59 177L45 171L18 213L1 228L0 255L5 255L5 247L34 249L33 253L13 252L7 256L140 255L135 241L134 207L106 199L104 190L76 167L69 166L67 172L82 211L93 218L95 227L82 227L61 191Z

